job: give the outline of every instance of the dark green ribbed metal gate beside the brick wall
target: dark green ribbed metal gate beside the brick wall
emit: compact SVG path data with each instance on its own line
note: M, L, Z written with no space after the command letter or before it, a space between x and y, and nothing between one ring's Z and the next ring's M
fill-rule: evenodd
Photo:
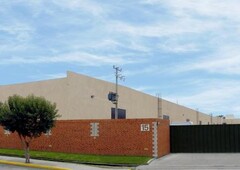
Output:
M240 152L240 125L171 126L172 153Z

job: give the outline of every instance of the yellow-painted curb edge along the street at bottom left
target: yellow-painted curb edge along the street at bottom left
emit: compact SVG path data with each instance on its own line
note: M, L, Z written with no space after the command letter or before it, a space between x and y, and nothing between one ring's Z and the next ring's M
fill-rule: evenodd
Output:
M61 168L56 166L47 166L47 165L39 165L39 164L31 164L31 163L21 163L21 162L12 162L0 160L0 164L14 165L14 166L23 166L30 168L41 168L41 169L52 169L52 170L71 170L69 168Z

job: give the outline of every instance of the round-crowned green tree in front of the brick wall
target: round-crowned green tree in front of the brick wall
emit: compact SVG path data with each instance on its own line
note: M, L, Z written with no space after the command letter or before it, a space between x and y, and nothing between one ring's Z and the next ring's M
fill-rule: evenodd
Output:
M0 125L17 132L25 151L26 163L30 163L29 147L34 138L54 127L58 110L56 104L43 97L13 95L0 103Z

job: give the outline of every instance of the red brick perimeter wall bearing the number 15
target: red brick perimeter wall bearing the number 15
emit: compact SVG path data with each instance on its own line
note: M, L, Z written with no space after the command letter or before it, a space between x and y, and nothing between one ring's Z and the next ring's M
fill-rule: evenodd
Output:
M170 151L169 122L160 119L126 120L59 120L52 135L34 139L32 150L99 155L152 156L152 122L158 126L158 155ZM99 136L90 136L90 123L99 123ZM149 124L150 131L141 131L141 124ZM2 132L1 132L2 131ZM6 136L0 131L0 148L21 148L16 134Z

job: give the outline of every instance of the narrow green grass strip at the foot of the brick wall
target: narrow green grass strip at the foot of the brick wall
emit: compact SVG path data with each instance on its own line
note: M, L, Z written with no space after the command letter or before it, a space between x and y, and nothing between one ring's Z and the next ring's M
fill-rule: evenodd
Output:
M23 150L0 149L0 155L23 157ZM30 151L31 158L74 162L85 164L109 164L109 165L142 165L147 164L151 157L143 156L108 156L108 155L83 155L59 152Z

